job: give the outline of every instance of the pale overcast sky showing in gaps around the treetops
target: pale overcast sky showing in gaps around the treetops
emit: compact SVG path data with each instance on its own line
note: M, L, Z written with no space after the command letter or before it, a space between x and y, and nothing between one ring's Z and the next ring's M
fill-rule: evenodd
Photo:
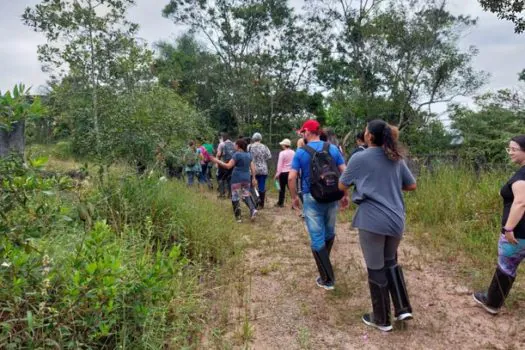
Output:
M44 36L32 32L20 20L24 8L38 2L0 0L0 91L10 89L19 82L33 86L33 91L45 85L47 76L41 71L36 54L37 45L44 42ZM168 0L136 2L137 6L130 10L130 19L140 25L139 35L147 42L153 44L159 40L172 40L181 34L181 28L161 16ZM301 7L303 0L291 2ZM483 12L477 0L450 0L449 9L455 14L479 18L477 27L462 39L461 45L476 46L479 55L474 59L474 68L491 75L482 91L516 87L517 74L525 68L525 34L514 34L511 23Z

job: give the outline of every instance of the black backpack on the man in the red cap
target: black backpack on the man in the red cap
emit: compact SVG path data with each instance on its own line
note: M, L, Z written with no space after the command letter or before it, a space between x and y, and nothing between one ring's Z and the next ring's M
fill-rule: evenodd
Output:
M317 152L305 145L304 150L310 154L310 193L319 203L331 203L340 200L344 192L339 190L341 172L330 154L330 144L325 142L323 149Z

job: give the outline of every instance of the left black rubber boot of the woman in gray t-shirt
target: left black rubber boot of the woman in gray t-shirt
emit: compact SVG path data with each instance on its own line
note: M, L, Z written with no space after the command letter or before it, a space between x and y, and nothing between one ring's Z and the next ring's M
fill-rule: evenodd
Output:
M390 322L390 295L385 269L368 269L368 286L372 299L372 314L363 315L363 322L384 332L392 330Z

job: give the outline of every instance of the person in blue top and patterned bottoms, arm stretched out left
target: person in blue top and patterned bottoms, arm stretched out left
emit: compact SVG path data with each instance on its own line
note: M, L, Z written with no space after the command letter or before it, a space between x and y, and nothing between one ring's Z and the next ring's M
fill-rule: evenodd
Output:
M247 152L246 141L239 139L235 141L235 153L228 163L211 157L211 161L217 163L219 167L233 169L231 177L231 192L233 213L237 222L241 222L241 199L250 210L250 218L255 219L257 215L256 203L250 194L250 187L257 186L255 179L255 164L252 155Z

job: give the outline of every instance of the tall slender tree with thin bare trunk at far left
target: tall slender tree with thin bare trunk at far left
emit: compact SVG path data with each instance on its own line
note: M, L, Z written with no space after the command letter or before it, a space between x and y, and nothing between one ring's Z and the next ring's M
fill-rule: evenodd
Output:
M47 43L38 47L43 69L52 80L74 76L88 91L96 151L101 151L100 90L132 90L147 79L151 53L134 38L138 25L126 19L134 0L42 0L26 8L22 19L42 32Z

